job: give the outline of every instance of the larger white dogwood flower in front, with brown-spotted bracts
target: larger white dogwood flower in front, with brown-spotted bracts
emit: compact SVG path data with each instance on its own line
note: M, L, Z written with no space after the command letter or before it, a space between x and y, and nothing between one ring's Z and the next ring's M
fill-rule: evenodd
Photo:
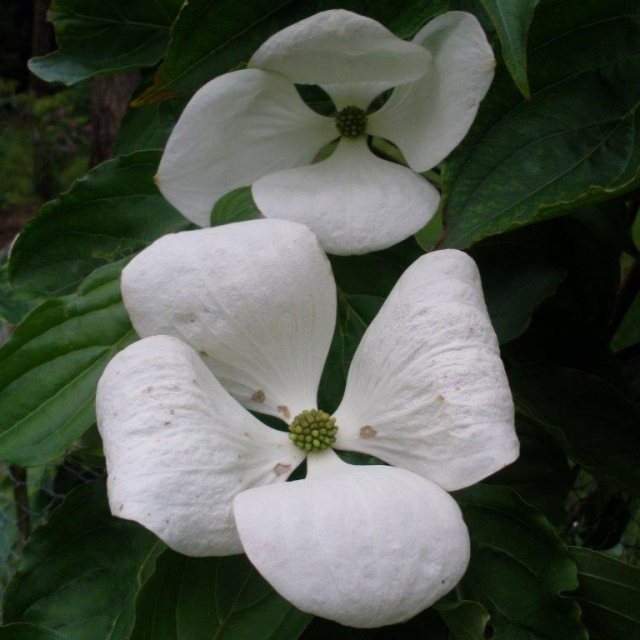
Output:
M122 291L142 340L111 361L97 398L115 515L187 555L244 551L294 605L356 627L406 620L457 583L469 540L447 491L518 452L471 258L417 260L353 358L335 447L395 466L307 457L247 411L299 432L296 416L316 408L336 287L306 227L165 236L126 267ZM307 477L284 482L305 457Z

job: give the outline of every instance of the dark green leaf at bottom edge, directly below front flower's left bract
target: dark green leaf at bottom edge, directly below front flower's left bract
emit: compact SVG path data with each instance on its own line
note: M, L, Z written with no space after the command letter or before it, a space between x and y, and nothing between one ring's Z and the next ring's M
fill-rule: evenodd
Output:
M295 640L312 616L281 598L245 556L163 553L140 592L131 640Z

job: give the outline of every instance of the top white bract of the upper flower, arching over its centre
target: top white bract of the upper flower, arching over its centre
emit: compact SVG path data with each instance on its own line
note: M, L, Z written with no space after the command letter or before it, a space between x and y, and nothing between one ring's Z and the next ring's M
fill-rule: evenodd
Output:
M330 95L332 86L337 95L342 95L341 85L351 87L352 103L366 108L386 89L423 76L429 59L424 48L401 40L379 22L333 9L271 36L249 66L278 71L296 84L322 85Z

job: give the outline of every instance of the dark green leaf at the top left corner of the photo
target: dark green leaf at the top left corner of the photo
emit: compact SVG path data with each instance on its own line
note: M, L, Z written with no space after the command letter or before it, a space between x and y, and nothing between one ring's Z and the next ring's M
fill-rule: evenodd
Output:
M47 82L67 85L156 64L182 0L54 0L48 13L59 51L29 62Z

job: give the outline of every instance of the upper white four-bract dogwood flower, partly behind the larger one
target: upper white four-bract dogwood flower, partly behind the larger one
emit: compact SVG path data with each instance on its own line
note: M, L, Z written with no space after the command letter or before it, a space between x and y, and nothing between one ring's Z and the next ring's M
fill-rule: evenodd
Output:
M438 191L415 172L460 143L493 72L491 47L471 14L440 15L406 42L355 13L319 13L269 38L248 69L193 96L167 143L158 186L200 226L209 226L220 197L253 185L265 217L304 223L329 253L389 247L436 212ZM363 135L342 136L328 159L311 164L341 134L295 84L321 86L337 110L355 106L360 117L396 88L369 114ZM375 156L367 135L396 144L411 168Z

